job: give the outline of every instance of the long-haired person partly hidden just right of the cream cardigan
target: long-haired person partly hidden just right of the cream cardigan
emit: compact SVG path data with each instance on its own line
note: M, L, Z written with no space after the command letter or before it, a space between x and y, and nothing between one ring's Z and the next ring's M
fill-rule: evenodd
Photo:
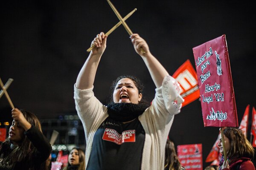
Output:
M185 168L180 164L175 150L175 145L170 139L167 139L166 141L164 160L164 170L185 170Z

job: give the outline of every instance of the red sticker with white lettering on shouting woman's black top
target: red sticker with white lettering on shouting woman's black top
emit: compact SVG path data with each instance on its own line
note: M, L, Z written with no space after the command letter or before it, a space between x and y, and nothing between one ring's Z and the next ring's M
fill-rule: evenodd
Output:
M105 141L114 142L116 144L122 144L124 142L135 142L135 130L126 130L122 134L119 134L114 129L106 128L102 139Z

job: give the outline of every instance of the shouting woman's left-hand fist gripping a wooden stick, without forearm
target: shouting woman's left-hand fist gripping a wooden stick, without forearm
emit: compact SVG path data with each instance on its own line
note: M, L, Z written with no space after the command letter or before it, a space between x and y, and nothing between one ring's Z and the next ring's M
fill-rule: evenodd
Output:
M91 50L91 54L93 55L102 55L106 49L106 42L107 42L107 37L104 32L101 32L98 34L94 40L92 41L91 45L94 44L93 49Z

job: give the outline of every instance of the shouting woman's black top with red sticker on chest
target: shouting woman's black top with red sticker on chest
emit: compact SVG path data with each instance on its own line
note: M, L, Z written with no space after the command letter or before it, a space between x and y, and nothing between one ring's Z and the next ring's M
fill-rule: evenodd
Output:
M138 118L122 123L108 117L93 137L86 170L140 170L144 142Z

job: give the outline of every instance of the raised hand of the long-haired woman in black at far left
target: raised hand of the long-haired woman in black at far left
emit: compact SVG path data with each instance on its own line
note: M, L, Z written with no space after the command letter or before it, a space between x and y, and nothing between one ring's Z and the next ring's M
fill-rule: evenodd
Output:
M25 130L28 130L31 127L31 124L26 120L21 111L17 108L12 109L12 118L15 122L19 123L21 127Z

